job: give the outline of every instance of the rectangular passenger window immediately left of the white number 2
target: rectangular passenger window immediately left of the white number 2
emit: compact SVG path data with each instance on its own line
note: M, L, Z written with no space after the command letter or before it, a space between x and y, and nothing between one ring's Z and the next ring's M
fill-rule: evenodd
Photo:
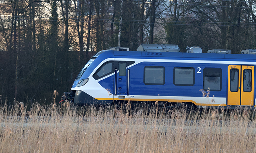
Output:
M173 84L193 86L195 84L195 69L193 67L175 67L173 69Z

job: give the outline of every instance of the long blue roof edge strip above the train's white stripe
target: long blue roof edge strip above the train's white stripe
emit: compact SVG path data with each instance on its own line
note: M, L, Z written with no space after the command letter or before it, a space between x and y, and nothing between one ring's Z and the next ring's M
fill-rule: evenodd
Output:
M256 60L253 54L211 54L211 53L174 53L174 52L137 52L113 51L114 56L148 56L148 57L186 57L186 58L223 58Z

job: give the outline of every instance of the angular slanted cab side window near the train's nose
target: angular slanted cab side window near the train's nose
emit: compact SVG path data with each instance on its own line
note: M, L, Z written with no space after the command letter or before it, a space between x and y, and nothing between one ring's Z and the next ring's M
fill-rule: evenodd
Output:
M105 63L96 71L93 77L94 79L98 80L106 75L109 75L110 73L113 73L113 62Z

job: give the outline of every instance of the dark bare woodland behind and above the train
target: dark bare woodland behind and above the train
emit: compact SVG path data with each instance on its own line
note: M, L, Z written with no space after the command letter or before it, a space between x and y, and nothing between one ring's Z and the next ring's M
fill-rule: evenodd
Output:
M256 48L254 0L0 0L0 102L53 102L109 47Z

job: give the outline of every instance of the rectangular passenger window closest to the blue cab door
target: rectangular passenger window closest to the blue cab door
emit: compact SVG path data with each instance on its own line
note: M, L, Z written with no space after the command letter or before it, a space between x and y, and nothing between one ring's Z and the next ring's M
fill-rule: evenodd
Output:
M146 85L165 84L165 67L145 66L144 67L144 84Z

